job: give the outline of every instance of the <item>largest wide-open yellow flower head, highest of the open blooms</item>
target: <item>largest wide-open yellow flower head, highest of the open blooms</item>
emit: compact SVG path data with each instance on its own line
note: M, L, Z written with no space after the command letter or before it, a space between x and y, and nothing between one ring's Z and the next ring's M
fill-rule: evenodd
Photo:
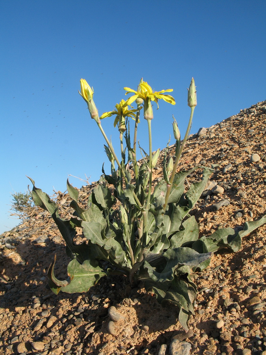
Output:
M163 99L166 102L169 102L172 105L175 105L174 98L171 95L165 94L165 92L172 92L173 89L167 89L167 90L161 90L161 91L155 91L153 92L152 88L149 86L148 83L140 82L138 86L138 91L135 91L131 88L124 88L126 90L126 95L129 93L134 93L131 98L129 98L126 101L126 105L132 104L133 101L135 101L137 98L143 99L144 101L155 101L157 104L157 107L159 108L158 105L158 99Z

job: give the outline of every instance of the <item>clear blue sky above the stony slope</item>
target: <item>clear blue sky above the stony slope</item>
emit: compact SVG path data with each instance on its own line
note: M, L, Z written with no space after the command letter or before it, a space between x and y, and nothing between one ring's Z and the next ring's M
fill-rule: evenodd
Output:
M164 148L172 115L184 136L192 77L192 133L266 99L265 18L265 1L1 1L0 233L20 222L9 205L12 193L27 190L26 175L51 195L66 190L69 174L92 182L104 161L109 170L104 139L78 94L81 78L100 114L141 77L155 91L172 88L176 105L160 102L152 121L153 150ZM102 125L118 147L113 118ZM148 149L145 120L139 129Z

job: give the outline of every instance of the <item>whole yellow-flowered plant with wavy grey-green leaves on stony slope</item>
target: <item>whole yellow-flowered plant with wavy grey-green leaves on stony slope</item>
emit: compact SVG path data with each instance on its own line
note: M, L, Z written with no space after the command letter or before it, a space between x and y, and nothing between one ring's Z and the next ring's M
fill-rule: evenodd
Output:
M168 157L167 144L163 159L164 179L154 189L152 174L160 149L152 153L151 101L158 104L158 99L164 99L175 104L173 97L166 94L172 90L153 92L142 80L137 91L125 89L127 93L133 93L133 96L126 102L121 100L113 111L99 117L93 101L93 89L85 80L81 80L80 94L105 138L107 145L104 147L111 163L110 175L107 175L102 167L103 175L89 196L88 208L79 206L79 193L67 181L67 190L72 198L70 207L75 213L69 220L63 220L59 216L57 204L51 201L46 193L37 189L31 179L35 204L50 212L65 239L67 255L72 258L67 268L69 278L65 281L55 277L56 259L54 260L48 271L49 285L55 294L60 290L67 293L86 292L102 276L125 275L132 285L142 281L146 290L152 289L162 304L172 302L177 305L179 321L187 330L189 316L194 313L197 294L190 273L203 270L209 264L212 253L221 248L237 251L242 236L265 223L266 217L260 221L245 223L242 231L237 232L232 228L219 229L211 236L199 239L198 224L195 217L189 213L203 192L212 169L202 166L177 172L196 106L194 79L192 78L188 89L191 113L185 137L181 142L174 120L175 155ZM134 101L137 103L137 109L129 106ZM144 119L148 122L149 153L139 146L144 157L141 162L137 162L137 129L141 105ZM121 160L101 126L101 119L112 115L115 115L114 125L118 126ZM135 120L133 144L128 118ZM185 190L185 179L195 169L202 170L201 180ZM87 238L87 242L81 245L74 243L77 227L82 228L83 235Z

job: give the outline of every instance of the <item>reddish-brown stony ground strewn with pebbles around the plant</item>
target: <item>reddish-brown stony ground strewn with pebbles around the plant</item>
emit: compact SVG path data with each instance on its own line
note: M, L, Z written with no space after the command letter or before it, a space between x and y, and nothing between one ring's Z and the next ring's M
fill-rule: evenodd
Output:
M266 101L190 137L180 168L215 168L192 213L201 235L265 214L265 133ZM160 179L161 160L155 183ZM80 203L92 187L81 189ZM67 213L68 195L57 199ZM266 354L265 225L245 237L237 253L216 253L209 268L193 274L199 294L188 333L174 306L161 307L141 285L132 289L120 277L102 278L86 294L54 295L48 266L56 253L55 274L64 278L69 260L40 209L0 242L0 354ZM120 320L110 327L111 306Z

